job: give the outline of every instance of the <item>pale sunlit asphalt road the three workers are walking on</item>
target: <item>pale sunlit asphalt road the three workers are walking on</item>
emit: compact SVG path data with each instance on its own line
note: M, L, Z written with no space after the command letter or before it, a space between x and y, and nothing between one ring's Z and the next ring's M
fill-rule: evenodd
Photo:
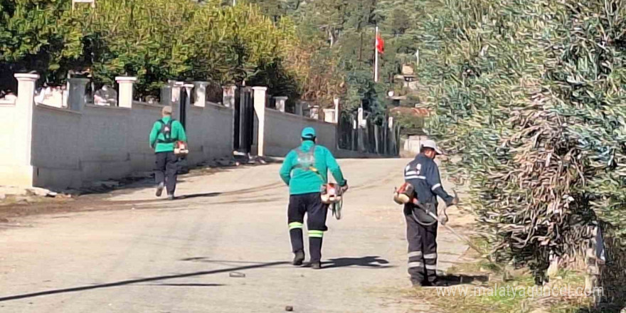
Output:
M183 177L176 201L137 188L105 195L120 210L11 221L0 312L428 312L403 295L405 222L391 193L407 162L340 160L351 190L341 221L329 215L317 271L290 265L278 164ZM439 247L440 270L467 249L441 228Z

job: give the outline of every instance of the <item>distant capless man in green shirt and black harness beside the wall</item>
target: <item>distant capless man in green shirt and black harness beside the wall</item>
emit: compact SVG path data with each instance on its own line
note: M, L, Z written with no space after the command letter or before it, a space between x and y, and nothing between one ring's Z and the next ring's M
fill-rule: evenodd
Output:
M157 197L163 189L167 191L167 198L174 200L176 191L176 173L178 172L178 156L174 154L177 142L187 142L185 129L181 122L171 117L171 107L161 110L162 118L154 122L150 132L150 147L154 149L154 178L157 181Z

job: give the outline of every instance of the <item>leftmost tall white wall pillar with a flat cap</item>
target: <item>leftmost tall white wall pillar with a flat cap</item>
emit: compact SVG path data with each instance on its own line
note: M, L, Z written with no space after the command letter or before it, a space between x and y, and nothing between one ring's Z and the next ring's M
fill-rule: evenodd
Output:
M14 166L11 166L6 174L9 174L11 184L14 186L33 186L34 171L31 164L32 140L33 140L33 107L35 105L35 83L39 79L38 74L16 74L18 81L17 99L15 102L14 140L11 144L10 157L13 158ZM6 153L6 152L5 152ZM3 175L4 170L2 171Z

